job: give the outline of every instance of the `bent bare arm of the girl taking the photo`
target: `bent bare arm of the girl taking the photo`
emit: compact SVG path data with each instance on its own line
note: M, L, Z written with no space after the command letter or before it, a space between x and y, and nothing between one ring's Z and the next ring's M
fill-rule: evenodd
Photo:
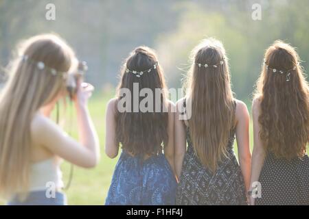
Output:
M80 142L68 136L56 123L41 114L34 117L31 126L32 138L36 144L45 146L55 155L84 168L95 166L100 157L98 135L87 108L87 99L92 90L92 86L80 88L76 97Z

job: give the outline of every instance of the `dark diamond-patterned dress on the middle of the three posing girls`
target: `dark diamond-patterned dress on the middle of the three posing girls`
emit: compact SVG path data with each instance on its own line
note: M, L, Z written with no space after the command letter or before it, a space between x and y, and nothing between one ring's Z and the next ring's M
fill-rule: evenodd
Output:
M218 164L213 174L194 153L190 129L186 128L187 151L176 192L177 205L247 205L242 172L233 152L235 131L232 129L229 134L228 157Z

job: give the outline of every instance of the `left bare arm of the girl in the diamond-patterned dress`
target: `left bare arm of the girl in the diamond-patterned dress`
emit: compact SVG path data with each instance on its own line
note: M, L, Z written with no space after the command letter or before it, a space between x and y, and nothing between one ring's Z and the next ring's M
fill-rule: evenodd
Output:
M179 179L181 177L181 169L183 167L183 159L186 151L185 140L185 125L183 120L179 120L179 114L181 113L181 106L183 105L183 99L176 103L176 113L174 114L174 141L175 141L175 171L176 176Z

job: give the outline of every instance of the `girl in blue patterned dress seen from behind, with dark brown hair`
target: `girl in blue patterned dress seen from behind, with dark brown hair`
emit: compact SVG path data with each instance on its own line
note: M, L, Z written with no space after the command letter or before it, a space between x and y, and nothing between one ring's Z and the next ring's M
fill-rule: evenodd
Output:
M139 86L138 93L134 86ZM106 205L174 205L176 179L173 174L174 140L173 103L159 94L152 110L144 111L128 96L139 95L143 89L155 94L165 88L161 67L155 53L139 47L126 61L119 85L118 97L108 103L106 114L106 154L119 157ZM124 94L130 92L130 95ZM128 95L128 96L127 96ZM155 97L155 96L154 96ZM142 99L138 96L139 103ZM160 105L159 112L157 105ZM124 110L121 109L124 106ZM149 108L148 108L149 109ZM163 152L164 151L164 154Z

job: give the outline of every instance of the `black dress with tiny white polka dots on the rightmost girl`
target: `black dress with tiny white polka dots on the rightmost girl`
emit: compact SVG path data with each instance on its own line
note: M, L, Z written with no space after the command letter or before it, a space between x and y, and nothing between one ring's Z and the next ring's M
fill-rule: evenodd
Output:
M268 153L259 182L261 198L255 205L309 205L309 157L290 161Z

